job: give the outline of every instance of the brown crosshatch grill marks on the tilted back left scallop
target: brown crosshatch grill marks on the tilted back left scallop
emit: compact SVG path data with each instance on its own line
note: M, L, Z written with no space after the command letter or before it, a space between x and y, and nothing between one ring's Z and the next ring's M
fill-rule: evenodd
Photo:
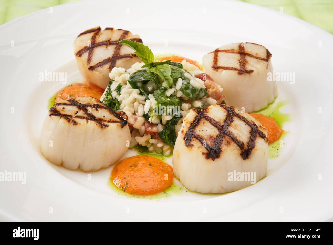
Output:
M113 30L113 28L112 27L107 27L104 30ZM108 47L109 45L116 45L116 47L114 49L114 52L112 54L112 57L104 59L104 60L96 63L95 65L90 66L88 68L90 71L94 71L96 68L98 68L100 66L104 66L104 65L106 65L108 63L110 63L109 70L112 70L112 68L114 68L116 66L116 61L118 59L137 57L136 54L119 55L120 50L122 48L122 44L119 44L118 42L121 41L121 40L123 40L123 39L125 39L126 36L129 33L129 31L125 31L125 30L122 30L122 29L117 29L117 30L123 31L123 33L120 36L119 40L116 40L116 41L111 41L111 38L110 38L110 39L108 39L106 41L95 42L95 40L97 38L97 35L101 31L101 27L84 31L84 32L82 32L79 35L79 36L81 36L81 35L84 35L84 34L87 34L87 33L95 32L94 35L91 37L91 43L90 43L90 45L83 47L82 49L80 49L79 51L77 51L75 53L76 56L81 57L85 52L88 52L88 58L87 58L87 64L88 65L91 63L92 56L93 56L93 53L94 53L94 48L100 47L100 46L106 46L106 47ZM142 39L141 38L131 38L131 39L128 39L128 40L133 41L133 42L142 43Z

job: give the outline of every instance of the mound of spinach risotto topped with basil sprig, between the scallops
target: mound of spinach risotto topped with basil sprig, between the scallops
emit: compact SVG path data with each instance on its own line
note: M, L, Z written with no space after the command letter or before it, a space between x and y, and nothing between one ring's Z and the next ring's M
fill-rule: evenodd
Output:
M128 116L131 148L140 144L150 152L169 155L189 109L221 103L222 88L197 78L202 71L185 58L154 61L147 46L127 40L119 43L132 47L143 62L127 70L113 68L101 101Z

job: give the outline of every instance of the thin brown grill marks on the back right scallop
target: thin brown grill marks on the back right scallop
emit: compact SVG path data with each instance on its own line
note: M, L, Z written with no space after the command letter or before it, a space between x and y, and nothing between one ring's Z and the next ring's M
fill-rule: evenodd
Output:
M246 43L249 43L249 42L246 42ZM244 73L251 73L251 72L253 72L253 70L246 70L246 63L247 63L246 56L249 56L249 57L252 57L255 59L259 59L262 61L266 61L267 67L268 67L268 61L269 61L270 57L272 56L272 54L268 51L268 49L266 49L266 58L261 58L261 57L246 53L244 50L243 44L245 44L245 43L239 43L238 51L236 51L234 49L219 50L217 48L214 51L210 52L210 53L214 53L213 65L211 66L211 68L214 69L215 71L218 71L219 69L238 71L239 75L242 75ZM251 44L260 45L260 44L256 44L256 43L251 43ZM262 46L262 45L260 45L260 46ZM236 67L230 67L230 66L218 66L218 53L219 52L239 54L239 69Z

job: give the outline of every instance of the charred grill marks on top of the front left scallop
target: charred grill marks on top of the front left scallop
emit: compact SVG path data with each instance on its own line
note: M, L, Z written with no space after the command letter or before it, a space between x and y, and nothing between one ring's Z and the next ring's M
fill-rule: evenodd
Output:
M94 121L94 122L98 123L102 128L103 127L109 127L109 125L104 123L104 122L120 123L122 125L122 128L127 124L127 119L124 117L125 112L122 112L122 111L116 112L116 111L112 110L111 108L109 108L107 106L102 106L102 105L99 105L99 104L96 104L96 103L95 104L89 104L89 103L82 104L82 103L76 101L73 98L70 99L70 100L67 100L67 101L70 102L70 103L60 102L60 103L54 104L51 107L51 109L49 110L51 112L50 116L60 116L60 117L64 118L65 120L67 120L68 122L71 122L73 125L78 124L75 120L73 120L74 118L86 119L87 123L88 123L88 121ZM87 115L87 117L76 115L78 112L75 113L76 116L74 118L72 118L72 115L62 114L54 107L54 106L59 106L59 105L75 106L78 109L83 110L85 115ZM94 108L97 111L100 108L108 109L108 111L111 114L113 114L119 121L105 120L103 118L96 118L91 112L88 111L87 108Z

